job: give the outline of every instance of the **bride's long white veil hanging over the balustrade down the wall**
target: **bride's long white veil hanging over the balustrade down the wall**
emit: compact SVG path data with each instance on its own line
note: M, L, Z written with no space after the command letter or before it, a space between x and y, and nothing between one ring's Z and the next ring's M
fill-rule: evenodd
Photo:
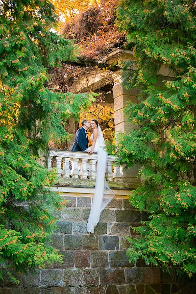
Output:
M98 133L98 163L95 194L87 223L87 231L91 233L94 233L94 228L98 224L101 212L115 196L105 180L107 152L105 150L105 140L103 138L103 133L99 124Z

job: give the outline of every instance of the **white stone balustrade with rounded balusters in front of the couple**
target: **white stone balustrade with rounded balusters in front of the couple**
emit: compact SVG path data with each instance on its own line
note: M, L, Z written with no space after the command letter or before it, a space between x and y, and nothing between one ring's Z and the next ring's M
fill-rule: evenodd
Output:
M48 169L55 167L58 177L95 180L97 161L97 153L50 149ZM108 181L118 181L122 178L122 168L115 165L116 161L116 156L108 155L106 168Z

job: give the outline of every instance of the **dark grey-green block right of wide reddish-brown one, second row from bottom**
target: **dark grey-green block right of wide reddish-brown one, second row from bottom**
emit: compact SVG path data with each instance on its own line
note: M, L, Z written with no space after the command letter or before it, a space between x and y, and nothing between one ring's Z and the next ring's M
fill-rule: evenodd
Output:
M145 280L144 268L125 269L126 284L144 283L144 280Z

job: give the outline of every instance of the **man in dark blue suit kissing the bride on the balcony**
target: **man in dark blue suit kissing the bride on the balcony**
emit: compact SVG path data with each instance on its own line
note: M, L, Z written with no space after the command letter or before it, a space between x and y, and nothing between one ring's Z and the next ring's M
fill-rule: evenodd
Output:
M76 131L71 151L85 151L88 148L89 140L86 131L91 125L88 120L83 120L81 124L82 127Z

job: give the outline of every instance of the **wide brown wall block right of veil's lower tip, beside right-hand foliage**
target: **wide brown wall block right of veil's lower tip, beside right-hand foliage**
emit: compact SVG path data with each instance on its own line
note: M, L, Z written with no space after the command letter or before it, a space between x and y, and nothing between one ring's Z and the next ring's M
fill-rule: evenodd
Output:
M117 222L138 222L141 221L140 212L136 210L116 210Z

